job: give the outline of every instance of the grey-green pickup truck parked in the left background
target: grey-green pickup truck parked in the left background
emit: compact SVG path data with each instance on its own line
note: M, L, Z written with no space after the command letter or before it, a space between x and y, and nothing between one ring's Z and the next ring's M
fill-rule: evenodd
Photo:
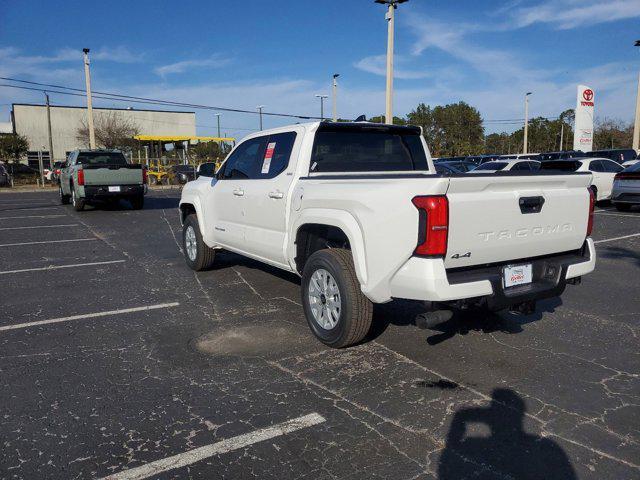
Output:
M125 199L140 210L146 176L142 165L127 162L117 150L75 150L60 171L60 201L81 211L87 204Z

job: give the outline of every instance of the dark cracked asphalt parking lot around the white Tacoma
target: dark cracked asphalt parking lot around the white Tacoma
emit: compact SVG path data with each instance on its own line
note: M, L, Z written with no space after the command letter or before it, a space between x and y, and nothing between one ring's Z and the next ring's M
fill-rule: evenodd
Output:
M1 478L640 478L640 210L534 315L393 302L331 350L296 277L186 267L179 195L0 195Z

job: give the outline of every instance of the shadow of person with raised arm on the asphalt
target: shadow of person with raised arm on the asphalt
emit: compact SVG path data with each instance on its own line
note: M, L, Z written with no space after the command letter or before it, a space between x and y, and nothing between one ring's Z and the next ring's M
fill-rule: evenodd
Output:
M525 432L525 412L522 398L509 389L494 390L488 407L458 411L440 457L438 478L576 480L556 442Z

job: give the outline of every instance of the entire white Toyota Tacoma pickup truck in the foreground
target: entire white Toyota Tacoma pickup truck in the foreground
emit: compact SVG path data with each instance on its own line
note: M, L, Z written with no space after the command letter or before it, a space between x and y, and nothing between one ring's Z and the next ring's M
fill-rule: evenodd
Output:
M265 130L182 191L189 267L230 250L302 277L314 335L362 340L374 303L530 313L593 271L589 173L443 176L418 127Z

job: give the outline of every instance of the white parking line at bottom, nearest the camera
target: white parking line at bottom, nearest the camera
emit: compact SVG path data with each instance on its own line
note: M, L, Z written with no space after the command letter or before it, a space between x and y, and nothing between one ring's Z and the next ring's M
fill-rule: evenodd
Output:
M211 445L195 448L188 452L179 453L172 457L163 458L155 462L142 465L140 467L123 470L122 472L109 475L102 480L141 480L143 478L155 477L163 472L176 468L186 467L205 458L213 457L223 453L232 452L240 448L248 447L254 443L263 442L271 438L286 435L287 433L309 428L314 425L326 422L326 419L318 413L310 413L303 417L294 418L272 427L261 428L253 432L231 437Z

